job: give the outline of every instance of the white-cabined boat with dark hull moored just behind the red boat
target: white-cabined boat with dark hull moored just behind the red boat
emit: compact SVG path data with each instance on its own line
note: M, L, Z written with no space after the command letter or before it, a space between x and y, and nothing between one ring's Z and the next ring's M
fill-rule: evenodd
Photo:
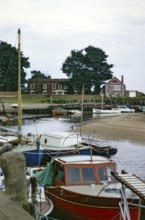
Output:
M46 164L52 157L64 155L93 155L111 157L117 153L117 148L111 146L97 146L83 140L78 133L53 132L41 134L40 144L44 149L42 164Z

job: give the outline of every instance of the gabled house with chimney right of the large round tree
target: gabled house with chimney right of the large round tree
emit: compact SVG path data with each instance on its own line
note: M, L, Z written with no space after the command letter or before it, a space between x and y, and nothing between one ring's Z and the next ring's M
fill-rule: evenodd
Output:
M123 76L121 76L121 80L119 80L117 77L113 77L102 87L102 93L106 97L111 97L111 96L123 97L125 96L125 92L126 92L126 86L124 84Z

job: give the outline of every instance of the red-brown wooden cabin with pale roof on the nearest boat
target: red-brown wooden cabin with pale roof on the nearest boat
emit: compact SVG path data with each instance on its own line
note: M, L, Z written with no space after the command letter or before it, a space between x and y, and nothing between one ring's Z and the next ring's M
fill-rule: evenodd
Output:
M104 184L113 180L111 171L116 171L115 162L102 156L59 157L54 161L52 185Z

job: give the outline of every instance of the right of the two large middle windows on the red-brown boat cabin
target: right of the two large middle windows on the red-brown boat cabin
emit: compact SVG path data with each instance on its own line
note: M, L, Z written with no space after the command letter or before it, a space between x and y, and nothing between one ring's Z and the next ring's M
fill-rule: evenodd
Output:
M83 182L95 183L94 169L82 168Z

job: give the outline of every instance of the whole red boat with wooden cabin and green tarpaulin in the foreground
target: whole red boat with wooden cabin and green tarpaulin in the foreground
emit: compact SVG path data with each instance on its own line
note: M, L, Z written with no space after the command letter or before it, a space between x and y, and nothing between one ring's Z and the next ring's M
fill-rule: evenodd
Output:
M34 174L45 195L54 205L52 216L75 220L120 220L122 184L114 161L102 156L72 155L56 157L45 170ZM43 178L44 177L44 178ZM138 196L126 188L132 220L138 217Z

